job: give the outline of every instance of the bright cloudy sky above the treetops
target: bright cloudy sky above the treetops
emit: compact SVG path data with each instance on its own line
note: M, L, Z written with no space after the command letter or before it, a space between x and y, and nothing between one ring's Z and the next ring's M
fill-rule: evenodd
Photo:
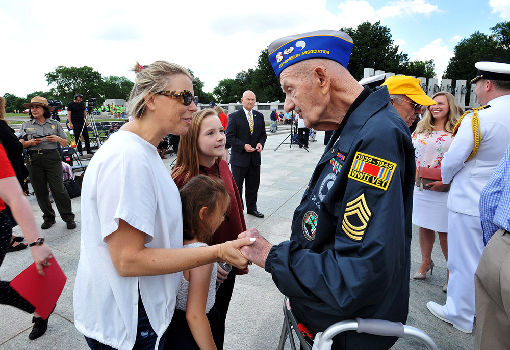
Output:
M441 75L459 40L510 20L510 0L0 0L0 95L47 91L44 73L57 66L133 80L135 60L189 67L211 92L274 39L378 20Z

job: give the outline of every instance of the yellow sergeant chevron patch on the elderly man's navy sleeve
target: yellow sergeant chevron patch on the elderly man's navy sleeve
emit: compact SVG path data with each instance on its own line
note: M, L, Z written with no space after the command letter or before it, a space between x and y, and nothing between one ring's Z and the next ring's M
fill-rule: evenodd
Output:
M372 211L368 207L365 193L362 193L345 206L342 230L351 240L362 241L371 216Z

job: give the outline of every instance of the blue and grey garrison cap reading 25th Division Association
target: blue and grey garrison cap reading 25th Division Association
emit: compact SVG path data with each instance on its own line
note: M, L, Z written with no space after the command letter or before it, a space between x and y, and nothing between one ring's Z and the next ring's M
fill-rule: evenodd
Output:
M278 78L285 68L307 59L330 59L347 68L353 46L347 33L325 29L273 41L269 60Z

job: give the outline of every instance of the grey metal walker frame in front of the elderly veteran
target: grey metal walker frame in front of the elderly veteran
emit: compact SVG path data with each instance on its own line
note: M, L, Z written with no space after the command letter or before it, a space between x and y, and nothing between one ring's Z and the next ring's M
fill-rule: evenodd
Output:
M285 297L284 324L277 350L284 350L287 337L289 337L291 349L297 350L292 331L296 333L301 346L305 350L312 350L312 348L319 350L330 349L331 345L330 343L328 345L328 342L330 342L330 340L337 334L346 331L356 331L358 333L368 333L388 337L412 337L420 340L428 350L438 350L436 343L422 330L413 326L403 325L400 322L391 322L384 319L356 318L355 320L337 322L336 324L329 326L322 333L317 344L311 344L310 341L305 339L301 332L299 332L297 319L292 312L288 297Z

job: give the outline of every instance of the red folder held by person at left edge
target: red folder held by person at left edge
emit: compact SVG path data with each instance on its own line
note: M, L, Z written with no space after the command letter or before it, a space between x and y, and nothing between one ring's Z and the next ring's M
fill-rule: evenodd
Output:
M49 259L49 263L52 265L43 267L44 276L39 275L35 263L32 263L10 283L14 290L35 306L35 312L43 319L48 318L57 304L67 280L54 257Z

